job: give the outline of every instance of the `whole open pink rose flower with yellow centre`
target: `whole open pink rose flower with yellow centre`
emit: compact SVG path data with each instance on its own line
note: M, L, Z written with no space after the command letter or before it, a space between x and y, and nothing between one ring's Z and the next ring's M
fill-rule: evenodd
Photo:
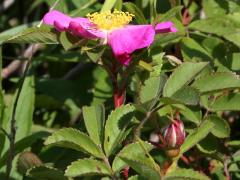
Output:
M115 58L124 65L131 61L131 54L138 49L149 47L157 33L176 32L172 22L152 25L129 25L132 14L114 10L87 15L87 18L72 18L53 10L43 17L43 22L58 31L68 31L86 39L100 39L108 44Z

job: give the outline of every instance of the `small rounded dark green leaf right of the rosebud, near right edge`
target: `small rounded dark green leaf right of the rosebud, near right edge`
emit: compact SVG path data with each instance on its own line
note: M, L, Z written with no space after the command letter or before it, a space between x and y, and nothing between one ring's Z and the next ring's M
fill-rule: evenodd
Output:
M230 127L226 120L215 115L209 115L206 120L215 124L211 131L214 136L218 138L227 138L230 136Z

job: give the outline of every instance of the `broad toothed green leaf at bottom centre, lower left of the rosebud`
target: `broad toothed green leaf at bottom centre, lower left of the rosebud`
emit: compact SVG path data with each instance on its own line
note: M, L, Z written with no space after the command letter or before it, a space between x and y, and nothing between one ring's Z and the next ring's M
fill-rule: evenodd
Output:
M153 146L147 142L138 142L125 146L117 155L141 176L148 179L160 179L159 166L149 156ZM115 162L116 164L116 162ZM115 166L113 166L116 168ZM120 169L119 167L116 168Z

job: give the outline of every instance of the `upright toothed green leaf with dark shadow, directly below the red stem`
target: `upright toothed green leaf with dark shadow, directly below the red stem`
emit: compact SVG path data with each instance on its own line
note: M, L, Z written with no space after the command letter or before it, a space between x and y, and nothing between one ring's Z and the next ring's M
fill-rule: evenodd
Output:
M104 150L107 156L111 155L121 145L127 135L128 125L133 120L134 106L127 104L121 106L108 116L105 125Z

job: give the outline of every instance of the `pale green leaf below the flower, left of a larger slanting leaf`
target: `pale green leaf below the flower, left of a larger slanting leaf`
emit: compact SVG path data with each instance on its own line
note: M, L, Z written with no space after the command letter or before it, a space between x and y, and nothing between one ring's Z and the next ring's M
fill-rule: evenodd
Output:
M166 75L161 74L144 81L144 85L140 89L140 101L145 104L147 110L150 110L159 100L166 79Z

